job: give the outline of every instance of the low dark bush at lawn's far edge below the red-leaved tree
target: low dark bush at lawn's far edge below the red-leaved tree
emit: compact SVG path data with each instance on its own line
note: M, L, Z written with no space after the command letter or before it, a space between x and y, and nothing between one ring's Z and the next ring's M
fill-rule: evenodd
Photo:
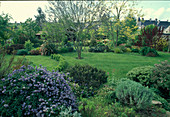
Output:
M158 52L154 48L150 48L150 47L141 48L140 53L142 54L142 56L151 56L151 57L159 56Z

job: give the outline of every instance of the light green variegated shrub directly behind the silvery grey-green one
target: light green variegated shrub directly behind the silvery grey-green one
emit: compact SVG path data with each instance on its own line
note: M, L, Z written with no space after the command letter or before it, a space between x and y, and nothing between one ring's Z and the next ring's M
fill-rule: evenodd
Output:
M152 76L153 67L152 66L143 66L136 67L130 70L126 76L130 80L141 83L144 86L151 86L151 76Z

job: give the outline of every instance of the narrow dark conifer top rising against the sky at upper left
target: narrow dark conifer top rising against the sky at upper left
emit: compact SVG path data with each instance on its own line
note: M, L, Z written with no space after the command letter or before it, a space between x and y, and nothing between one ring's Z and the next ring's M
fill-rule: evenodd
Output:
M44 22L46 22L46 15L45 13L42 11L41 7L38 7L37 9L38 15L34 16L36 18L36 22L38 23L38 25L40 26L40 29L42 30L42 24Z

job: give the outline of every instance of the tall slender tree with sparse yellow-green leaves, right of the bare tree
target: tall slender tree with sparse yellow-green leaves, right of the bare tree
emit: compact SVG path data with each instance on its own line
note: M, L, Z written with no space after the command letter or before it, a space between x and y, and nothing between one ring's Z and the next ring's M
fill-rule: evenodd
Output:
M140 16L140 11L136 10L134 6L135 1L123 0L123 1L109 1L106 2L105 13L108 16L108 20L105 20L105 24L111 28L112 40L114 45L118 45L120 29L122 29L122 19L126 14L131 13ZM108 28L109 29L109 28ZM114 33L116 32L116 39L114 39Z

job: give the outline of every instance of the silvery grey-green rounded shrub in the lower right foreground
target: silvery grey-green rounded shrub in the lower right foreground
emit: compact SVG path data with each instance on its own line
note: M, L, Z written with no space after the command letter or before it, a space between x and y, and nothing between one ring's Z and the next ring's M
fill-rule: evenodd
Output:
M126 80L117 86L116 96L125 105L135 107L136 109L145 109L151 105L153 94L141 84Z

